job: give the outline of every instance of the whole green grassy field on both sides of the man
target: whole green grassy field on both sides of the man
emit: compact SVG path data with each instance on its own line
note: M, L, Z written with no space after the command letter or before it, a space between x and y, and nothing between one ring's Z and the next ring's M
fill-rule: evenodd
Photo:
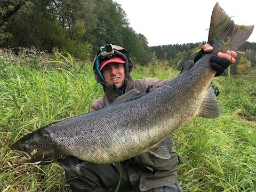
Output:
M91 62L82 69L75 61L65 69L34 69L31 61L0 55L0 191L68 191L62 167L14 165L18 154L10 146L39 127L87 113L103 92ZM132 75L170 79L178 73L161 65L135 66ZM214 83L222 117L196 118L174 134L179 183L184 191L256 191L256 84L241 77Z

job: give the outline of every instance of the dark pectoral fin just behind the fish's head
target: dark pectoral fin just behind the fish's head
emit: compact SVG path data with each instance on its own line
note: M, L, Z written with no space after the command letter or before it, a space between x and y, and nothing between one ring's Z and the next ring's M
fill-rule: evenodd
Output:
M78 158L73 156L65 156L57 159L57 162L65 169L69 171L79 171Z

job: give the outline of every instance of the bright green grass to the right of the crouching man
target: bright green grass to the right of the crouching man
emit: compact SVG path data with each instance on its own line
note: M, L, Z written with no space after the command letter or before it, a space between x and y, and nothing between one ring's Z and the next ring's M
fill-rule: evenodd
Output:
M256 85L243 78L214 82L222 117L198 117L175 133L179 181L185 191L256 191Z

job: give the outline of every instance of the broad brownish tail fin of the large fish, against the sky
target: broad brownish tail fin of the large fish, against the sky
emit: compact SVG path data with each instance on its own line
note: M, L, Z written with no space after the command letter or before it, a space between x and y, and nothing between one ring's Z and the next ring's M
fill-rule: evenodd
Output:
M235 25L217 2L212 11L208 43L213 45L217 39L227 50L236 51L250 37L253 28L254 25Z

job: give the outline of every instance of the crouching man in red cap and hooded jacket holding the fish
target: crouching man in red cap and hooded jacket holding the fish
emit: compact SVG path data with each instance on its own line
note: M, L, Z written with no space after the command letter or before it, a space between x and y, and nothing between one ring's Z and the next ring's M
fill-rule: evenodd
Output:
M99 51L94 59L95 79L103 86L105 95L91 104L90 111L110 105L119 96L132 89L147 94L169 81L157 78L133 81L130 76L133 65L129 52L116 45L113 45L113 49L113 54L107 56L103 56ZM195 61L199 60L204 52L212 50L212 46L205 44ZM218 57L211 58L211 64L217 70L218 76L223 73L230 62L235 62L236 52L228 51L217 55ZM186 62L181 73L189 70L193 65L193 61ZM123 189L123 191L182 191L177 183L177 165L180 160L173 148L172 135L164 139L162 143L169 149L170 159L158 158L146 152L115 164L98 165L80 162L80 170L66 170L66 178L73 192L108 191L110 188L115 189L118 182L120 182L119 189ZM121 173L121 177L119 173Z

